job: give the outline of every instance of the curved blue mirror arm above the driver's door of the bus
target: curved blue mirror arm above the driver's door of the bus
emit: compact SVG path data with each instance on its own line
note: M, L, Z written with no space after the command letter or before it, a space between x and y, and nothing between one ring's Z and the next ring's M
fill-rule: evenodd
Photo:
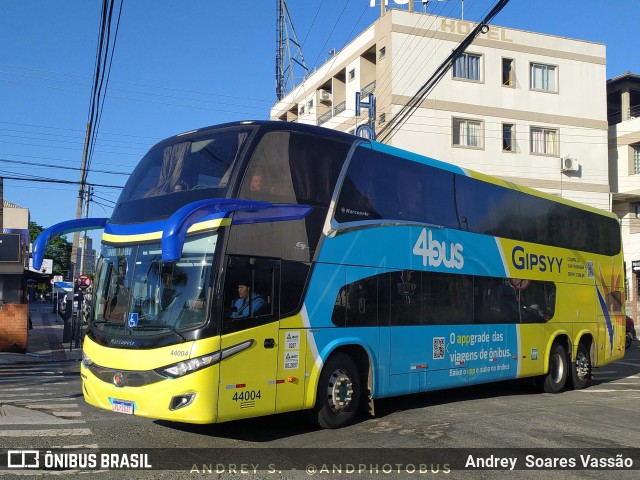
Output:
M307 205L278 204L233 198L211 198L198 200L179 208L165 223L162 232L162 260L175 262L182 256L182 247L187 231L204 217L216 213L242 212L234 224L278 222L299 220L307 216L311 207Z

